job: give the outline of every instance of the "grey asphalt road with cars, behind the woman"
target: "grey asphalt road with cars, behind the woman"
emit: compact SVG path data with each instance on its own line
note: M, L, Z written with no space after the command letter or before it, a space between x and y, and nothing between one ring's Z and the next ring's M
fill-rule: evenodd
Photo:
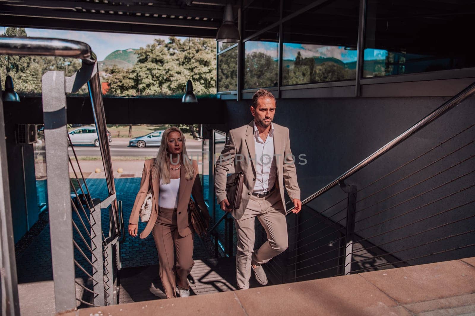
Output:
M190 142L191 144L186 145L186 149L189 155L196 157L197 154L201 154L201 143L194 141ZM157 154L160 147L145 147L145 148L137 148L137 147L128 147L128 141L124 142L121 140L120 142L116 141L116 139L112 139L112 143L110 143L110 150L112 157L118 156L129 156L129 157L144 157L149 156L153 157ZM74 150L76 151L76 155L78 156L100 156L101 152L99 151L99 147L95 147L92 145L75 145ZM68 148L69 155L73 156L73 150L71 147ZM195 158L196 159L196 158Z

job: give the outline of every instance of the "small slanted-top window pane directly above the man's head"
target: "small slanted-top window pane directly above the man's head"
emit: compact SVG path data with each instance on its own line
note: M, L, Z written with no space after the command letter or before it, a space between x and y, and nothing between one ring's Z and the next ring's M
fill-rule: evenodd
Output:
M276 87L278 28L244 43L244 89Z

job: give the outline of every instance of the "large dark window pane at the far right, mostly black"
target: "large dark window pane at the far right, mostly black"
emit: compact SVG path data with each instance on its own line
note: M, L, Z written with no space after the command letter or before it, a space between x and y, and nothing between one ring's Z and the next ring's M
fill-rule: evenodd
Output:
M363 77L474 67L466 32L473 1L369 0Z

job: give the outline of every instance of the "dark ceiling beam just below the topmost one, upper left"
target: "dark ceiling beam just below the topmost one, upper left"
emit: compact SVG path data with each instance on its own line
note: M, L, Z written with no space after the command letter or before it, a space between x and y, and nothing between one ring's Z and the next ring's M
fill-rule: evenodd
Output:
M199 21L194 19L172 19L158 17L143 17L136 15L116 15L109 13L85 13L85 12L61 12L50 9L21 9L12 10L12 7L0 5L0 14L16 17L35 17L35 18L60 18L79 21L94 22L114 22L114 23L132 23L155 26L178 26L178 27L196 27L218 29L218 21ZM4 18L4 17L3 17Z

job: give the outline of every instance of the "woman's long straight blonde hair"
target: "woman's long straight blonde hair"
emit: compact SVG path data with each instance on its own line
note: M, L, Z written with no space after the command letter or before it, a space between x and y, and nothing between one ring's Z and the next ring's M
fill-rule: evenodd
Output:
M171 163L170 154L168 154L168 134L171 132L178 132L180 133L181 140L183 141L183 151L181 152L179 159L180 161ZM195 170L193 168L191 159L188 157L188 153L186 152L186 145L185 145L185 135L181 132L180 128L176 126L171 126L161 134L161 143L160 149L158 150L157 157L155 158L155 162L153 163L153 178L157 179L157 176L160 174L161 183L167 184L170 183L170 169L169 166L176 166L178 167L181 163L181 168L184 168L185 177L187 180L193 179L195 176Z

